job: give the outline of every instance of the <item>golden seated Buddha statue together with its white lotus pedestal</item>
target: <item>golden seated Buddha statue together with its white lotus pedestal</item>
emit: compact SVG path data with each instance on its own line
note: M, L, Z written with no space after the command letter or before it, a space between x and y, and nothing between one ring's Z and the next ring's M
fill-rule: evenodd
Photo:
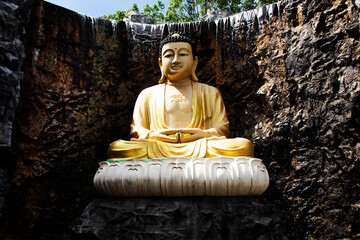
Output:
M249 140L226 138L229 121L221 94L198 82L193 42L169 35L159 55L159 84L140 93L133 138L110 144L95 188L122 197L262 194L269 185L266 167L253 158Z

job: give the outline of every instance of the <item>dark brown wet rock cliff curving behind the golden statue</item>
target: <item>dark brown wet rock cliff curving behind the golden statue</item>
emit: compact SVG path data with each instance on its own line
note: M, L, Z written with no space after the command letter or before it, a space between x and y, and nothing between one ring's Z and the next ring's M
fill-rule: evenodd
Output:
M159 41L174 30L196 40L197 75L221 91L231 136L255 143L271 177L261 198L282 209L288 238L359 236L357 1L282 1L170 25L91 19L40 0L30 10L1 237L73 236L97 197L97 163L128 138L138 93L160 77Z

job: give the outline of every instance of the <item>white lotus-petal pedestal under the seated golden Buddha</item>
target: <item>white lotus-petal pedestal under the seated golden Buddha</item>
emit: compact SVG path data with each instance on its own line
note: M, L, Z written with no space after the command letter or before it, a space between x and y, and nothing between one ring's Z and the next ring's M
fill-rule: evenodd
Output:
M100 163L95 188L106 195L257 196L269 185L258 158L166 158L109 160Z

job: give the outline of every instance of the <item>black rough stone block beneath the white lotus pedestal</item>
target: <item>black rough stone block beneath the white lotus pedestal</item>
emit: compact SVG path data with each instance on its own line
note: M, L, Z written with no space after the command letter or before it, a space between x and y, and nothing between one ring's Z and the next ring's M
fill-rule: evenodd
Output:
M79 239L287 239L273 204L256 197L98 199Z

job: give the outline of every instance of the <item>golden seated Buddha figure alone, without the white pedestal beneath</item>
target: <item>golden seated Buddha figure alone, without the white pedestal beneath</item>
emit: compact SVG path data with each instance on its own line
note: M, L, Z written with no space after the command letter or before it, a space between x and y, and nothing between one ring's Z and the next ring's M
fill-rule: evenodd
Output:
M178 33L169 35L159 55L159 84L140 93L132 138L111 143L109 160L253 157L248 139L227 138L229 121L220 92L198 82L193 41Z

